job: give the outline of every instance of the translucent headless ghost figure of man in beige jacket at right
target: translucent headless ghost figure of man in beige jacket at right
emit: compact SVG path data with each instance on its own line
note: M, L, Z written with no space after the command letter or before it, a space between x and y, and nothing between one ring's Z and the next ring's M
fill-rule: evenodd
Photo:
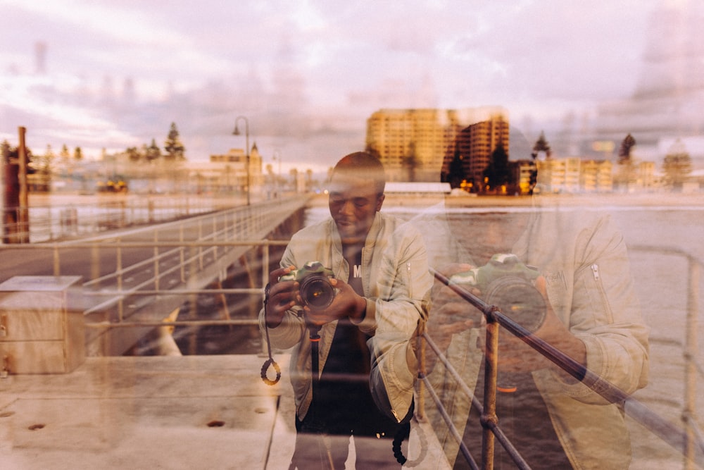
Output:
M430 218L419 217L415 222L423 223L424 234L429 235L431 266L446 276L473 267L467 256L473 240L458 242L466 229L442 221L439 229L430 228L430 223L437 222L432 220L438 218L437 212ZM506 224L501 230L507 226L515 229ZM501 237L496 251L516 254L541 273L535 287L545 300L545 320L535 335L624 392L643 388L648 377L648 328L641 319L623 237L610 217L598 211L536 206L527 224L516 231L521 235ZM484 292L475 293L481 296ZM436 284L427 330L481 402L484 328L477 309L448 287ZM620 403L605 400L522 341L501 333L498 358L503 382L497 389L497 415L527 463L534 468L628 468L630 442ZM372 376L384 378L382 383L395 379L394 394L388 395L392 407L404 396L404 380L406 397L413 395L413 380L398 373L402 369L398 364L392 369L384 361L386 351L393 350L380 350L372 369ZM482 428L477 413L470 414L470 398L444 364L432 361L432 353L428 359L431 384L455 428L460 434L464 431L463 443L479 460ZM415 367L410 357L408 369ZM384 395L382 389L374 392ZM428 468L467 468L458 454L459 444L435 411L429 409L428 415L444 458L425 464ZM496 468L514 466L498 443L496 464Z

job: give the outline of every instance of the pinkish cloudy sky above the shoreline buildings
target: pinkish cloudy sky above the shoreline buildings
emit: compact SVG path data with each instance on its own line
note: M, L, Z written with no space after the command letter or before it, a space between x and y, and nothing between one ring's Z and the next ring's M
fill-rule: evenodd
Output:
M329 166L377 109L498 105L529 140L642 85L654 18L686 0L0 2L0 140L89 156L244 147ZM240 123L242 123L240 121ZM549 137L549 136L548 136ZM291 163L289 163L291 162Z

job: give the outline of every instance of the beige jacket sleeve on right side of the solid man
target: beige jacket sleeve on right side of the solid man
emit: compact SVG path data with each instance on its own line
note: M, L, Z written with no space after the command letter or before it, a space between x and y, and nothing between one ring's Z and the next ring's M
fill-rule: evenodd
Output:
M413 415L417 374L407 350L416 340L419 323L427 319L432 278L422 238L409 230L401 246L387 249L375 300L375 335L368 340L372 356L370 390L377 407L396 421Z

